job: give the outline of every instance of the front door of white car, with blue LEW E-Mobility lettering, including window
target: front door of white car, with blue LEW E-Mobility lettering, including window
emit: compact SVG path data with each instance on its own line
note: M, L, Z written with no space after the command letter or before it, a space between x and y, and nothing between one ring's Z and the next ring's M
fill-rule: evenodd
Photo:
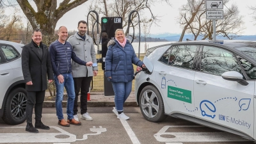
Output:
M233 52L205 45L201 54L200 71L195 72L194 81L196 118L253 137L254 80L244 86L221 77L224 72L236 71L248 78Z

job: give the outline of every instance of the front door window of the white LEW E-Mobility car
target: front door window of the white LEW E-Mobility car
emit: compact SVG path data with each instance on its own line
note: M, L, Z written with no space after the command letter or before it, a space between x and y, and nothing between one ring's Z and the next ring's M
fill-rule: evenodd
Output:
M241 67L232 52L211 46L204 46L201 71L217 76L221 76L221 74L228 71L236 71L242 74Z

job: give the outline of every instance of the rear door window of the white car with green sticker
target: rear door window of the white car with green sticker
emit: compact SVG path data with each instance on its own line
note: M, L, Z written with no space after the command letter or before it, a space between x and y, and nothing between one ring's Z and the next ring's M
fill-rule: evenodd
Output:
M160 59L166 65L180 68L193 68L196 45L175 45L164 53Z

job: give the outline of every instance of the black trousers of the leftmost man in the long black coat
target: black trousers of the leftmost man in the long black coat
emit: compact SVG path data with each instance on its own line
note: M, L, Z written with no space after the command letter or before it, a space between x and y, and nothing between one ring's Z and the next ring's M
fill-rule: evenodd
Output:
M43 102L45 97L44 91L28 91L28 100L26 106L27 122L32 123L33 107L35 105L35 120L41 120Z

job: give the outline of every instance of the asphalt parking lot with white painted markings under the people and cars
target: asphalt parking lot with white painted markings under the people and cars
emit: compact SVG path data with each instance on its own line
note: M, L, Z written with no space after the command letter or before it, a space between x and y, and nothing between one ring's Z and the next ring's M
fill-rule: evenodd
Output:
M90 107L93 121L61 127L55 108L44 108L42 122L51 127L32 134L26 123L6 125L0 122L0 143L166 143L166 144L250 144L240 136L218 131L168 116L164 122L152 123L143 118L139 107L125 107L130 120L119 120L111 107ZM65 111L65 108L63 108ZM64 114L67 118L67 115Z

